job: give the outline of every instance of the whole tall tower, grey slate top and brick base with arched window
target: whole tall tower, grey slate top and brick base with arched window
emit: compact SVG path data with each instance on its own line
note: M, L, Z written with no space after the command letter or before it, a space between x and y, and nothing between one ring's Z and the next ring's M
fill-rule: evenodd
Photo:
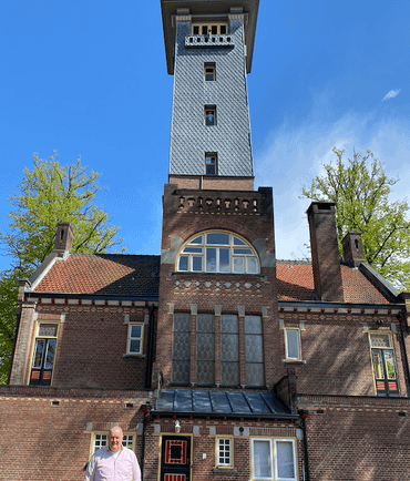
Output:
M174 91L156 371L164 387L266 388L283 371L271 188L253 190L246 89L259 2L161 3Z

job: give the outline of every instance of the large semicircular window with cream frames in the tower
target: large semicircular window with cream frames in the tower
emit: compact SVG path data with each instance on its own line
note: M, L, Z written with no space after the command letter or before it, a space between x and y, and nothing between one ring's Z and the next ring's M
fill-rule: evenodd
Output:
M176 259L180 272L258 274L259 263L250 244L229 232L204 232L185 243Z

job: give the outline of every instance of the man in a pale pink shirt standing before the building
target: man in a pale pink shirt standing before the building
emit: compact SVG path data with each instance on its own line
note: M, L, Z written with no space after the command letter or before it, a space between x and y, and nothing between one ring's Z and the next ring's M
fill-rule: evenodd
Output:
M122 446L122 429L119 426L112 428L109 446L94 452L86 467L84 481L141 481L135 453Z

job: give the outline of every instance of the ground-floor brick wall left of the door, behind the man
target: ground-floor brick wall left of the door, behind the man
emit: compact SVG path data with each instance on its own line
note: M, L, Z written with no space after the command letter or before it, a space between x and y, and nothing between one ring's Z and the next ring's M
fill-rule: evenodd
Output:
M141 391L63 391L52 388L0 387L1 479L8 481L82 481L91 431L119 423L136 432L142 423ZM52 402L59 405L52 406ZM125 407L131 402L131 408ZM88 424L89 423L89 424ZM90 424L92 423L92 426ZM141 460L142 436L135 453Z

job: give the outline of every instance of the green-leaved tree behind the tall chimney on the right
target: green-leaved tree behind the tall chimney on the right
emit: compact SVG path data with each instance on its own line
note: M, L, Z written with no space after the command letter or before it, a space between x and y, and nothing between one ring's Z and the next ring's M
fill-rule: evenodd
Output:
M391 187L383 163L370 151L353 153L334 147L336 163L324 164L324 174L312 180L303 196L336 204L339 250L349 231L361 232L365 259L397 287L410 287L410 222L407 201L389 202Z

